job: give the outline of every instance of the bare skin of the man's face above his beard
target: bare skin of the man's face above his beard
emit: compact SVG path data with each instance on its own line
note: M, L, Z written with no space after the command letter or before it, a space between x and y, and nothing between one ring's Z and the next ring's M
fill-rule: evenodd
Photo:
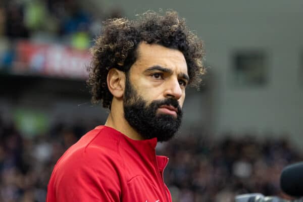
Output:
M129 71L133 87L147 104L171 97L183 106L188 73L185 58L177 49L141 43Z

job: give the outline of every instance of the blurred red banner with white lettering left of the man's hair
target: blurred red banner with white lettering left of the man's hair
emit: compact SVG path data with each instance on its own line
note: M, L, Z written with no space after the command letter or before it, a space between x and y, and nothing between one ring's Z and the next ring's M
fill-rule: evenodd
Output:
M37 74L65 78L86 79L90 62L87 50L81 51L56 44L17 43L15 73Z

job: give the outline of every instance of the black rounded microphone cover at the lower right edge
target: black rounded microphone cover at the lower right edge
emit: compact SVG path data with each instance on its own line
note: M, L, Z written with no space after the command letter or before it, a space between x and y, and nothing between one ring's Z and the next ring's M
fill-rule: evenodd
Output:
M290 196L303 196L303 162L291 164L282 170L280 187Z

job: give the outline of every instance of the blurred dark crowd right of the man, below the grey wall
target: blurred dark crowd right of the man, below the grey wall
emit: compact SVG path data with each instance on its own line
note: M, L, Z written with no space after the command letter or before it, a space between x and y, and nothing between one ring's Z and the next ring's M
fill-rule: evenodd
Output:
M182 134L160 152L170 158L165 179L173 201L234 201L244 193L288 198L280 189L282 169L303 160L287 139L254 134ZM287 137L287 136L286 136Z

